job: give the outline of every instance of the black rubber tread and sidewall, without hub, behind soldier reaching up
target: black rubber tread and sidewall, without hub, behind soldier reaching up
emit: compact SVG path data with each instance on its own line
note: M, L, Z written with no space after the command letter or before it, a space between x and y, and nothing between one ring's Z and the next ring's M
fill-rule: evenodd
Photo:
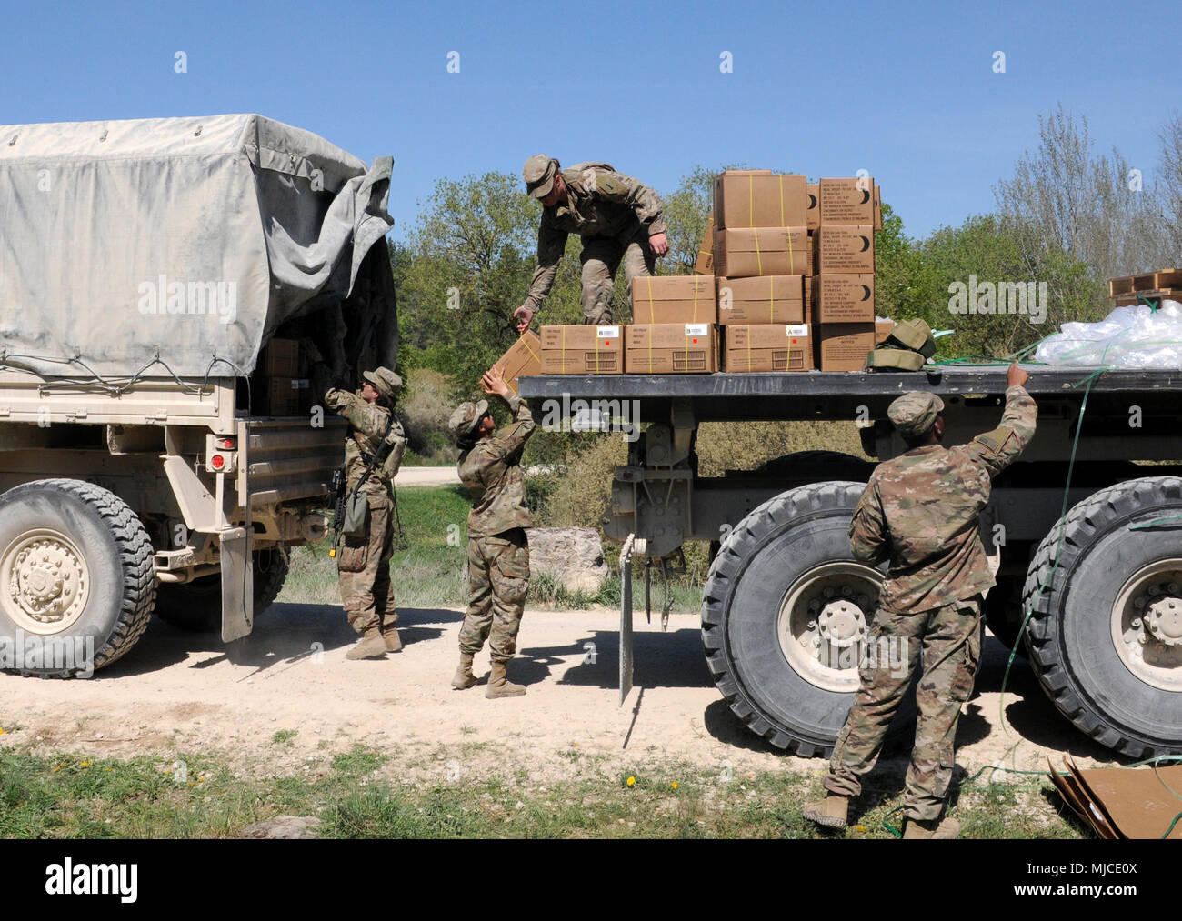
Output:
M857 669L840 669L836 690L790 661L781 643L781 611L798 588L824 567L850 566L873 585L881 572L850 556L847 530L865 484L819 482L788 489L748 514L727 534L702 592L702 646L714 681L730 709L777 748L800 755L829 754L845 722ZM852 672L852 676L851 676ZM896 732L907 713L896 719Z

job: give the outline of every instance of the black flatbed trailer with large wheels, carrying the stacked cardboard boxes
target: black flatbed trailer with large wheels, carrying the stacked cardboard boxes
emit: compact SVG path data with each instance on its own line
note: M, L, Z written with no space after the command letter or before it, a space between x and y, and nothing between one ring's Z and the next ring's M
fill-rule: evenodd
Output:
M1038 429L994 482L981 538L996 586L986 620L1018 640L1080 731L1130 757L1182 751L1182 369L1026 367ZM885 564L851 556L847 527L875 462L785 454L754 471L697 474L702 422L847 421L865 454L905 446L886 407L908 390L944 402L946 445L996 428L1002 365L918 372L563 375L524 377L535 419L628 434L604 532L667 563L710 543L702 644L734 713L772 745L832 751ZM736 465L741 466L741 465ZM626 579L625 579L626 582ZM621 624L631 685L630 592Z

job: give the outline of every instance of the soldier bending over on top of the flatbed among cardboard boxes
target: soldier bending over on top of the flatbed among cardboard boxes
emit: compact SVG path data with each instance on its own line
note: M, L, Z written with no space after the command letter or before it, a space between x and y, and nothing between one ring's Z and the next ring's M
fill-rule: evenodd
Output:
M608 163L576 163L561 169L545 154L530 157L521 170L526 192L543 205L538 231L538 267L525 303L513 316L518 331L541 310L558 274L566 238L583 238L583 322L611 323L616 268L634 278L651 275L655 259L669 252L661 199L648 186L617 173Z

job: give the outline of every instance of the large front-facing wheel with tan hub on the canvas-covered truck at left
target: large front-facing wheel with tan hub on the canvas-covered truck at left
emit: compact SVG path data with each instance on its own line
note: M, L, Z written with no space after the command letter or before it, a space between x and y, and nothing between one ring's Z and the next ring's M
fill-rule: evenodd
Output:
M155 602L151 540L115 493L56 479L0 495L0 634L59 641L63 653L5 670L74 677L109 666L148 629Z

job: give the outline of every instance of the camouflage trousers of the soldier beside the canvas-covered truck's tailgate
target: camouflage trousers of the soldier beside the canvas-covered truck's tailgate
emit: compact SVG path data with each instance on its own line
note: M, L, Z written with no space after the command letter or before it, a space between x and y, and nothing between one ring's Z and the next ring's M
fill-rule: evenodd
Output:
M394 500L387 489L362 493L369 500L369 525L361 537L346 537L337 550L340 602L349 624L359 634L396 623L390 594L394 553Z

